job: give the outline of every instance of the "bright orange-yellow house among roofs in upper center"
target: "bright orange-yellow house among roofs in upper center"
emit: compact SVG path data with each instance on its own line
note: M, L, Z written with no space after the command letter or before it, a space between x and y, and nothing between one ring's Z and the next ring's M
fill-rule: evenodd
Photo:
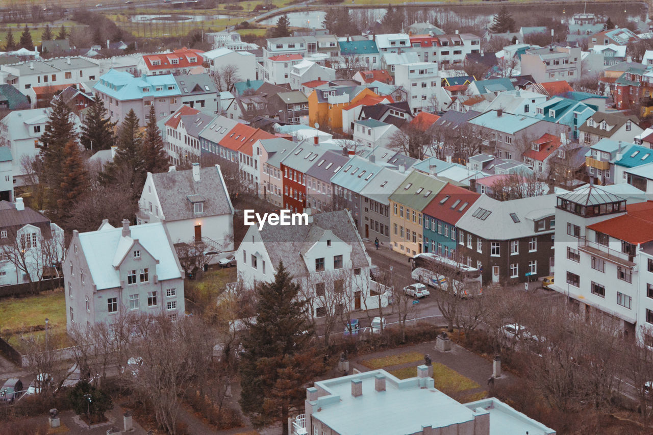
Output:
M313 90L308 95L309 125L312 127L317 122L321 127L328 125L334 131L342 131L343 108L357 103L368 95L379 97L370 88L364 88L352 97L352 94L347 92L352 92L353 89L351 86L329 86Z

